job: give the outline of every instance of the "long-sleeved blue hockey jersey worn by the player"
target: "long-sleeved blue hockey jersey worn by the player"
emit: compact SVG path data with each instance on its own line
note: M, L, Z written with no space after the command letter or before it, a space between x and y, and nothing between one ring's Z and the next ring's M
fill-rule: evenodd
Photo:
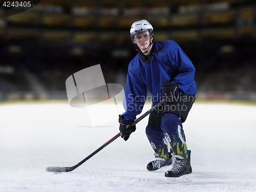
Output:
M137 54L129 64L123 100L125 119L135 119L141 113L147 89L153 105L162 99L161 83L175 82L180 93L196 94L195 67L173 40L156 41L147 64Z

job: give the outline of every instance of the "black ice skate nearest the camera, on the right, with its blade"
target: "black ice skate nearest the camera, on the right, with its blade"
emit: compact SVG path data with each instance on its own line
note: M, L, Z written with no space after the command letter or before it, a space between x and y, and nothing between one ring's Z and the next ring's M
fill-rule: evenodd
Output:
M172 183L187 183L191 182L192 168L190 165L190 157L185 159L182 156L175 155L176 161L172 169L165 172L165 182Z

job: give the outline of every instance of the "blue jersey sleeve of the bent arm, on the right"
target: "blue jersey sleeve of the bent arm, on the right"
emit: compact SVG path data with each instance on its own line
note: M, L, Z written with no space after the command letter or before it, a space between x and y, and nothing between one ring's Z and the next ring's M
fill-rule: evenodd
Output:
M175 67L178 69L178 74L172 82L177 83L179 89L185 93L190 84L194 82L196 68L178 45L175 55L173 55L173 61Z

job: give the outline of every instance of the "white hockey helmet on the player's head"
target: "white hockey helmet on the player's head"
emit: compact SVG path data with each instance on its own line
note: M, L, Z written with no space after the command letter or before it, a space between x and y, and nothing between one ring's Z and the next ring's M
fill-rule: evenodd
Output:
M131 39L133 44L135 44L134 42L134 35L137 33L141 33L141 32L145 32L145 31L149 31L150 35L153 34L153 27L150 23L147 22L147 20L142 19L142 20L138 20L137 22L134 22L131 30L130 30L130 34L131 34Z

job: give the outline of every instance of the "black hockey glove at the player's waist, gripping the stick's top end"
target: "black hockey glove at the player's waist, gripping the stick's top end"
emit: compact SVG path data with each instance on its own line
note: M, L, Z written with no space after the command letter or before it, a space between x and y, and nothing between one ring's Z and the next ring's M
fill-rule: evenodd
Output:
M167 96L169 101L175 101L179 98L178 84L174 82L163 81L161 84L163 96Z

